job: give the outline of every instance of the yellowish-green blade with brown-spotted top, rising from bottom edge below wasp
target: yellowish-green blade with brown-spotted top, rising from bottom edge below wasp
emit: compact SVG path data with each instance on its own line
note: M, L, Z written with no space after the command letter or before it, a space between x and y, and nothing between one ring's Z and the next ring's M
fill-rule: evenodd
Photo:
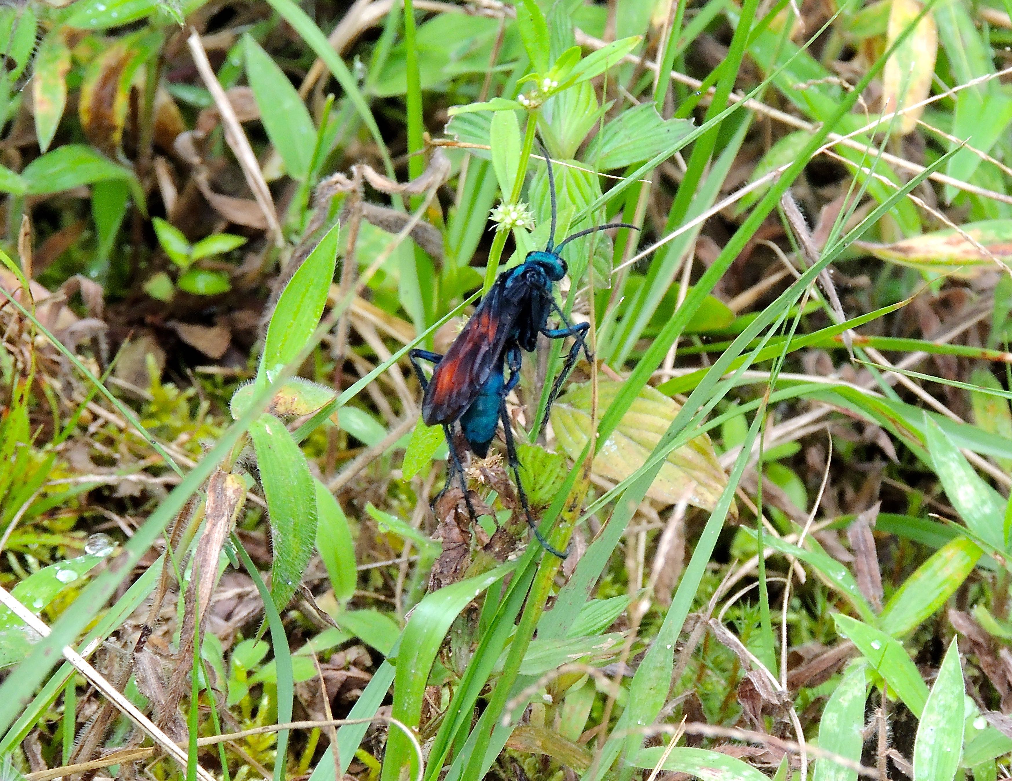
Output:
M574 471L576 470L582 470L581 463L574 466ZM560 550L565 550L566 546L569 545L573 528L576 525L576 519L579 517L580 508L583 506L583 500L587 495L589 487L590 471L588 469L577 479L576 485L574 485L573 490L566 500L566 507L560 516L560 522L553 527L550 541L553 546L558 547ZM523 662L523 657L527 653L530 640L534 636L534 629L537 628L537 622L544 612L544 605L552 595L552 586L561 563L562 559L558 556L551 554L541 556L537 574L534 576L534 582L531 584L530 592L527 595L527 602L520 617L520 623L516 627L513 641L510 643L509 654L503 665L503 673L499 677L492 691L492 698L489 700L485 712L482 714L482 718L476 727L479 732L474 749L471 752L468 767L463 772L463 778L482 777L482 765L485 761L485 753L488 750L489 742L492 740L492 733L499 721L499 716L506 706L506 701L513 689L513 684L516 683L516 679L520 675L520 664Z

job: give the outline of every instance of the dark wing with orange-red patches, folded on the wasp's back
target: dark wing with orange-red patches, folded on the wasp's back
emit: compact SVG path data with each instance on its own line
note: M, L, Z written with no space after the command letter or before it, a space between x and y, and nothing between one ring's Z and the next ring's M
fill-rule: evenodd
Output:
M422 398L425 425L457 421L481 393L492 369L502 361L506 340L529 292L523 277L513 278L508 287L506 278L504 274L496 280L436 364Z

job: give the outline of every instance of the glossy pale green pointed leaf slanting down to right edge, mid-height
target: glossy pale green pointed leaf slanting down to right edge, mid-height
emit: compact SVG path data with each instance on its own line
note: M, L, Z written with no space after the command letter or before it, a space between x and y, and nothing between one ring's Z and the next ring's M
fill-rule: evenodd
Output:
M985 483L934 421L927 419L924 433L935 472L945 496L966 527L999 550L1005 549L1005 501Z

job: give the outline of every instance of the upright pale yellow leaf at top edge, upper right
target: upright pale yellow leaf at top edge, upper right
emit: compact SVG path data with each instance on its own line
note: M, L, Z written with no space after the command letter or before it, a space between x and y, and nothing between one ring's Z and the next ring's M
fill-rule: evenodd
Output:
M893 46L922 10L924 6L917 0L893 0L889 15L887 46ZM882 77L883 112L903 111L928 96L937 55L938 28L935 26L934 17L928 12L886 62L886 73ZM906 136L913 133L923 112L924 106L919 106L898 116L892 125L893 135Z

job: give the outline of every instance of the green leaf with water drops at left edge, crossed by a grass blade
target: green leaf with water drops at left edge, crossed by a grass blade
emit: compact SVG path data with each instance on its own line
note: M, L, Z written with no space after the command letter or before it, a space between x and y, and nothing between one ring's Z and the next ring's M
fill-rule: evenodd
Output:
M109 547L109 552L112 548ZM107 555L107 554L106 554ZM35 615L71 585L81 585L90 570L106 555L83 555L44 567L10 590L18 602ZM6 607L0 606L0 669L25 659L38 635Z

